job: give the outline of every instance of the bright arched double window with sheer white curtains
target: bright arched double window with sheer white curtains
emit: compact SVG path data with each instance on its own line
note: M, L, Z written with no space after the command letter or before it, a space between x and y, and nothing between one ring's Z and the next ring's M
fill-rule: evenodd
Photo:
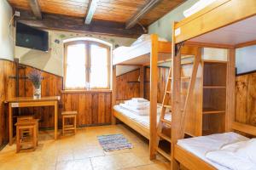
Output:
M65 43L65 89L110 88L110 48L102 43Z

